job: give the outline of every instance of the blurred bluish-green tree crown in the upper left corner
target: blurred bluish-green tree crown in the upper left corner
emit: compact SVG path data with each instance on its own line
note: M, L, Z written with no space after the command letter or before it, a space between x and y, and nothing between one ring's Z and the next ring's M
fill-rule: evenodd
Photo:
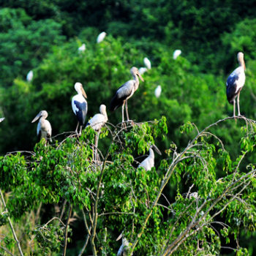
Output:
M50 19L34 21L22 9L3 8L0 20L0 83L7 87L18 76L26 78L49 48L59 45L64 37L59 23Z

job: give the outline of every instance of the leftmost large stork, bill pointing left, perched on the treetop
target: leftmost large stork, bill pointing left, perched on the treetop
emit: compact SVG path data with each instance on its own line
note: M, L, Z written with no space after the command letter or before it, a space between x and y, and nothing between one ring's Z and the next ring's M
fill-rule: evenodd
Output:
M40 136L40 140L42 138L45 138L45 140L50 139L51 137L51 126L50 122L46 120L48 117L48 113L46 110L40 111L37 116L31 121L31 123L34 123L39 119L39 122L37 124L37 136Z

